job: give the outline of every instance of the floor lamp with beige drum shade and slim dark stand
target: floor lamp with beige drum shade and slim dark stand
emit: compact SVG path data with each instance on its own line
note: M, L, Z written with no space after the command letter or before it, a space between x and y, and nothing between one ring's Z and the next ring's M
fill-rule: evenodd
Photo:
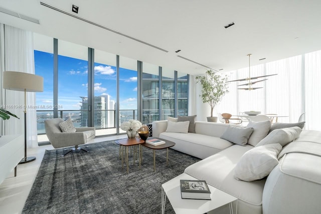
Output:
M25 157L21 163L28 163L36 160L36 157L27 157L27 101L26 92L42 92L44 90L44 79L41 76L23 72L5 71L3 76L3 87L5 89L25 92Z

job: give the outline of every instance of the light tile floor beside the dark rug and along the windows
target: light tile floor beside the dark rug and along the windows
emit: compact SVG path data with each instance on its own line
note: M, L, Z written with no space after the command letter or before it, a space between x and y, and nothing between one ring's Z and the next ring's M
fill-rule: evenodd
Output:
M126 136L127 135L117 135L95 138L94 143L121 139ZM54 149L54 147L52 145L44 145L37 148L27 149L27 156L35 156L36 160L25 164L19 164L17 167L17 176L15 177L13 170L11 174L0 184L1 214L22 212L46 149L50 150Z

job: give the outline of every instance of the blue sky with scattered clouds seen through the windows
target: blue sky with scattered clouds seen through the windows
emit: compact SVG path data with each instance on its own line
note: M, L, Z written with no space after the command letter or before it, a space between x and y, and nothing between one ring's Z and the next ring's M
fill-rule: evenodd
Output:
M94 64L95 96L110 96L116 102L116 67ZM47 110L53 105L53 54L35 51L35 72L44 78L44 91L36 94L36 105ZM59 110L79 110L81 96L87 97L88 62L58 57ZM137 109L137 72L119 69L120 109ZM51 110L50 108L48 110Z

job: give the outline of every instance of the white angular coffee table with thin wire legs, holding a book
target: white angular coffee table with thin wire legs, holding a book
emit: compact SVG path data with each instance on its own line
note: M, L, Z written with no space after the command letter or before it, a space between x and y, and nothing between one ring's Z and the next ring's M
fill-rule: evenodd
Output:
M165 213L165 202L166 196L169 198L169 201L174 208L176 214L179 213L205 213L216 209L220 206L229 203L230 213L233 213L232 202L237 200L236 197L223 192L211 185L208 185L211 190L212 200L201 200L201 199L182 199L181 197L181 188L180 180L196 180L195 177L192 177L188 174L180 174L179 176L173 178L172 180L167 181L162 184L162 213Z

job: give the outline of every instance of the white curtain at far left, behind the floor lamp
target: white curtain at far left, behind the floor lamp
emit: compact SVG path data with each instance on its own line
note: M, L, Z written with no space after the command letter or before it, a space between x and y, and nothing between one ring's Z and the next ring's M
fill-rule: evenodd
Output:
M2 71L18 71L35 74L33 33L5 25L1 31L1 41L4 40L4 55L2 55ZM4 59L3 59L4 58ZM2 75L1 75L2 76ZM3 89L4 90L4 89ZM27 92L27 148L37 147L37 116L36 97L34 92ZM24 92L6 90L5 106L20 119L10 118L6 121L5 134L24 134Z

